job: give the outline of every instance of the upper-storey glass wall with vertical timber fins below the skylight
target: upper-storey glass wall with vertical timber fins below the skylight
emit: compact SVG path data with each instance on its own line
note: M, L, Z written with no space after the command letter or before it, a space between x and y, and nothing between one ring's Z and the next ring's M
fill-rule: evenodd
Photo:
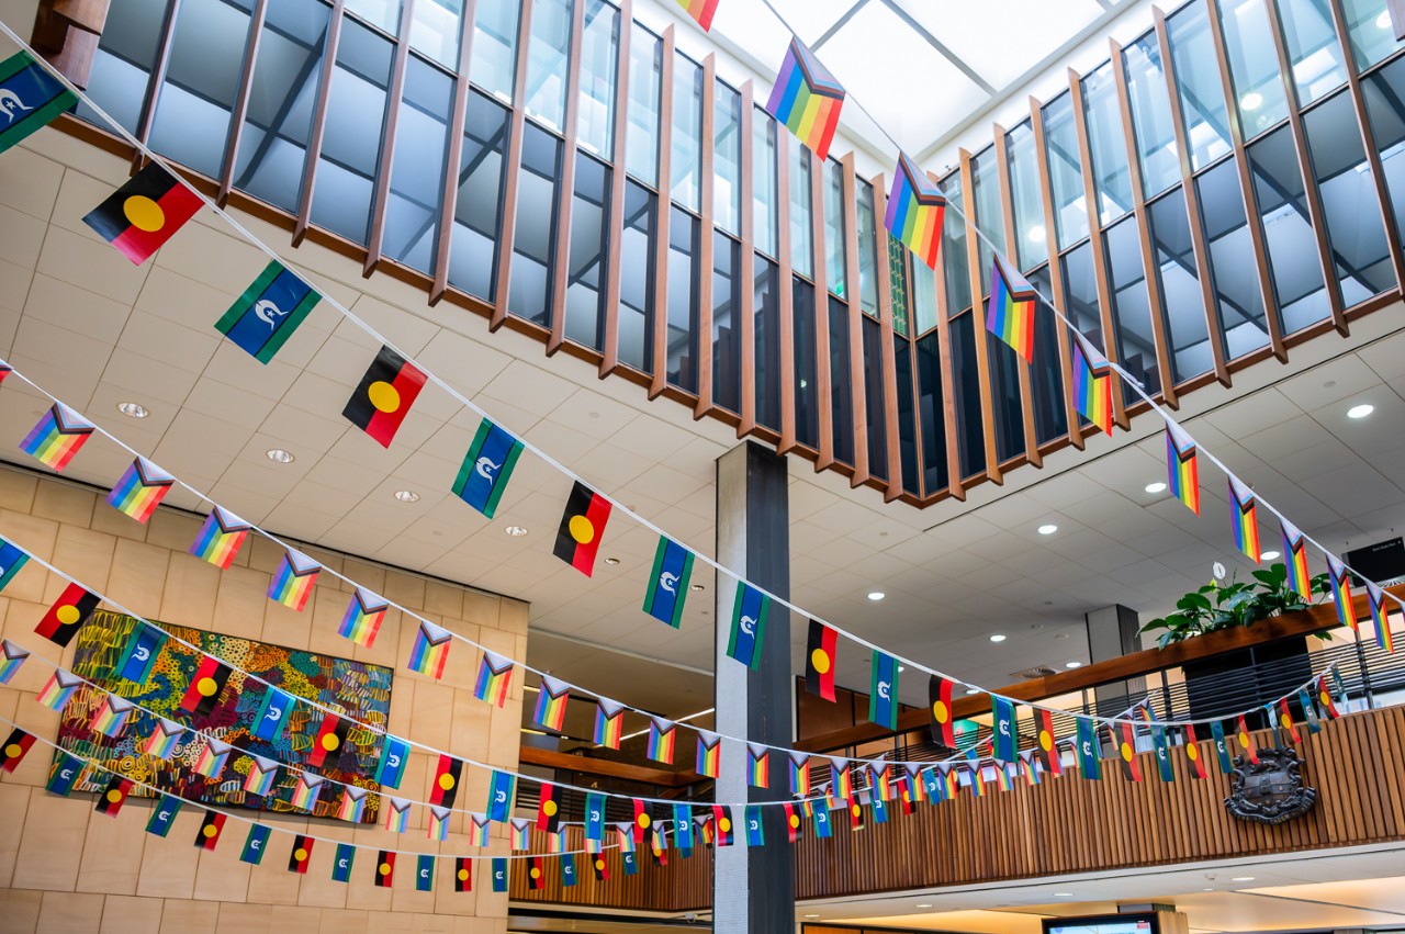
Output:
M631 0L51 7L56 63L294 243L915 506L1094 431L1051 315L1033 365L988 337L976 230L1172 407L1346 333L1405 271L1385 0L1156 10L939 180L969 222L947 212L936 274L882 229L891 178L815 159L770 87L728 86ZM77 117L60 126L131 154ZM1145 407L1116 388L1118 424Z

